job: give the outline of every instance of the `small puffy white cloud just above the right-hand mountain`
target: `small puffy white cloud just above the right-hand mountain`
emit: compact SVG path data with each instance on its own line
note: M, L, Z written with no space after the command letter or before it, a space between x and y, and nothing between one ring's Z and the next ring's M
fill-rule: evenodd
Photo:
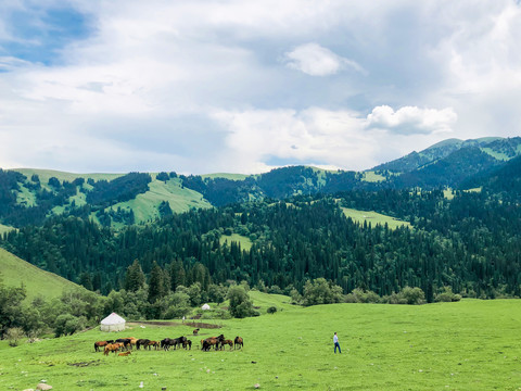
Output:
M452 108L435 110L404 106L394 111L389 105L372 109L367 116L371 128L387 129L397 134L432 134L453 131L452 126L458 118Z

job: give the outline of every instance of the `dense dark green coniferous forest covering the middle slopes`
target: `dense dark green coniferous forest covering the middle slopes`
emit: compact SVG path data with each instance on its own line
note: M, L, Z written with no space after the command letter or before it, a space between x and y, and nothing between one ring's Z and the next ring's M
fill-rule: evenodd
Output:
M355 223L342 207L377 211L411 227ZM232 232L247 237L251 249L219 240ZM104 294L125 288L138 260L149 278L154 266L168 275L173 291L234 280L302 292L322 277L344 293L419 287L429 302L443 287L472 298L519 297L520 232L514 195L484 188L447 199L441 190L387 189L193 210L118 231L64 214L4 234L2 247Z

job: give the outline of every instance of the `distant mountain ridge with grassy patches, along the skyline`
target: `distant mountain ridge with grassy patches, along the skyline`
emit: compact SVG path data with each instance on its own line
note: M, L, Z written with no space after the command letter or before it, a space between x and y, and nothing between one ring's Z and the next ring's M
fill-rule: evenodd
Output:
M352 190L468 188L519 155L521 137L490 137L448 139L361 173L308 166L259 175L203 176L0 169L0 228L41 225L64 214L120 229L173 213L264 199Z

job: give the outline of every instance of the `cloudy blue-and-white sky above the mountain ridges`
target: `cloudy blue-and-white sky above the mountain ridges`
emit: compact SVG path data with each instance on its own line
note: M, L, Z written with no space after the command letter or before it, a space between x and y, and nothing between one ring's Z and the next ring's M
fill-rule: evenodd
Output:
M0 0L0 167L368 169L521 135L516 0Z

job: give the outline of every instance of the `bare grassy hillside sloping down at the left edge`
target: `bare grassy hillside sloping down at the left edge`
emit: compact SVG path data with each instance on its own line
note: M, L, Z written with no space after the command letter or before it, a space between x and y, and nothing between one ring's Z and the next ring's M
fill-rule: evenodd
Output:
M59 298L65 288L77 287L74 282L45 272L3 249L0 249L0 276L8 287L20 287L24 283L27 302L37 295L48 300Z

